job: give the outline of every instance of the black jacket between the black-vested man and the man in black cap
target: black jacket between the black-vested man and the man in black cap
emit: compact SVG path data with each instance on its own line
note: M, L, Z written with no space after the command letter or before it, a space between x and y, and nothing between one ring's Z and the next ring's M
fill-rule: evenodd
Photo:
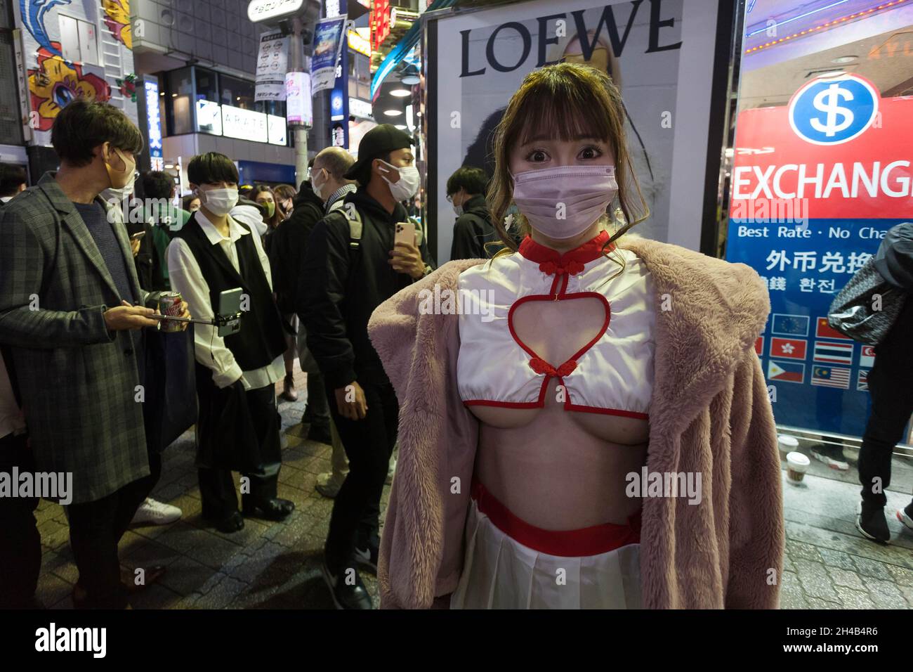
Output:
M301 263L310 231L323 217L323 201L310 189L295 197L295 208L289 219L269 234L269 266L273 276L273 292L282 315L294 313L298 307L298 283Z

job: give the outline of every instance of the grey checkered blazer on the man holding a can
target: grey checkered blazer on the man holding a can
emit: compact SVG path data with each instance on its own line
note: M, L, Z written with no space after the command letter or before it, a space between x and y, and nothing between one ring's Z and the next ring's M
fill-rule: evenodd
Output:
M146 302L114 210L134 295ZM110 333L102 315L120 304L52 173L0 210L0 342L10 346L37 471L71 472L73 504L149 474L137 354L130 332Z

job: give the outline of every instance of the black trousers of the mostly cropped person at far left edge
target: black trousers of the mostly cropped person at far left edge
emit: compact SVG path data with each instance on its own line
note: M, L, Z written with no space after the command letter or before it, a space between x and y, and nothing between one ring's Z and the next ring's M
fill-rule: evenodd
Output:
M35 457L26 434L0 439L0 472L12 477L35 472ZM41 536L35 520L37 497L0 497L0 609L31 605L41 570Z

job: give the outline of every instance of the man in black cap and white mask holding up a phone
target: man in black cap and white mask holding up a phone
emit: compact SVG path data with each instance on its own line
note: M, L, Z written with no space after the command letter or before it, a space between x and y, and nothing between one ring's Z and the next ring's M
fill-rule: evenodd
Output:
M419 185L411 145L407 133L387 123L364 135L358 161L345 173L358 189L314 227L299 278L298 314L349 458L323 563L340 609L372 608L355 565L377 571L380 500L399 416L393 386L368 338L368 319L434 267L420 227L415 244L394 244L396 223L407 220L402 201ZM352 235L351 220L357 219L360 238Z

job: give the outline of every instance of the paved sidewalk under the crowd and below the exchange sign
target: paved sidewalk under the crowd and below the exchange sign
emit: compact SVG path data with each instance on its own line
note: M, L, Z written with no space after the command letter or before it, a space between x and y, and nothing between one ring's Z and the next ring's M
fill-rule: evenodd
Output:
M279 496L294 501L295 512L282 523L247 518L245 528L230 535L207 528L200 518L194 439L188 432L164 453L162 480L152 494L181 507L184 517L167 528L132 529L121 541L125 566L168 567L160 581L134 597L134 607L332 608L320 577L332 501L314 490L317 475L330 469L330 446L301 438L304 375L296 379L301 400L279 404L288 444ZM855 485L808 475L802 486L783 488L788 536L783 608L913 608L913 533L900 534L892 518L892 545L862 539L853 522ZM388 496L384 488L384 507ZM895 493L888 499L894 508L909 501ZM44 550L37 597L49 607L69 609L77 571L66 517L58 505L42 502L37 518ZM362 577L376 604L376 581L368 573Z

